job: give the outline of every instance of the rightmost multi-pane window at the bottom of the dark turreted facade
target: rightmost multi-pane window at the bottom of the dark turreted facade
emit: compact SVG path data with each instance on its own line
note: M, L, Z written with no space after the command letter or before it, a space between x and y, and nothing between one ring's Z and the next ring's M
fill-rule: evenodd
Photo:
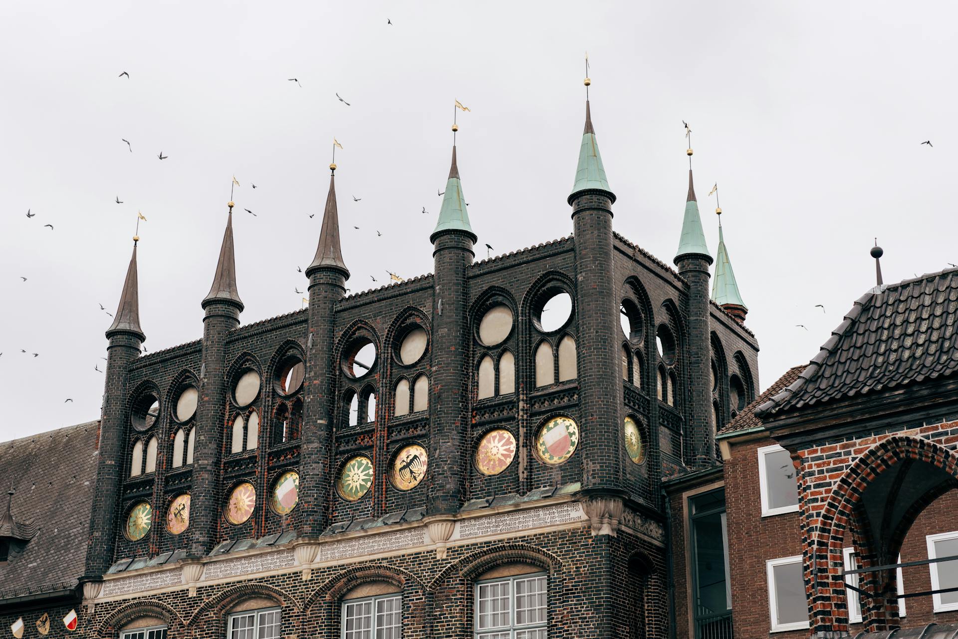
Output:
M475 584L475 639L546 639L548 579L518 575Z

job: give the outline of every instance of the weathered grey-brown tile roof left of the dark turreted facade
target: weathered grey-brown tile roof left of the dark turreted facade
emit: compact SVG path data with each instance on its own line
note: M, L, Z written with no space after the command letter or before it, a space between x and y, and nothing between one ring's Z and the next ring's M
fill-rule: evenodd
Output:
M100 422L87 422L0 444L0 487L16 491L13 519L35 530L0 565L0 600L72 587L82 575L99 434Z

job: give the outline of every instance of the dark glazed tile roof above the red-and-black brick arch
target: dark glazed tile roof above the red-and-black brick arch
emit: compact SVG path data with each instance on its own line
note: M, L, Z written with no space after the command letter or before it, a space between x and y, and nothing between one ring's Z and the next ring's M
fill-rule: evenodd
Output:
M877 393L958 371L958 269L865 293L798 379L755 414Z

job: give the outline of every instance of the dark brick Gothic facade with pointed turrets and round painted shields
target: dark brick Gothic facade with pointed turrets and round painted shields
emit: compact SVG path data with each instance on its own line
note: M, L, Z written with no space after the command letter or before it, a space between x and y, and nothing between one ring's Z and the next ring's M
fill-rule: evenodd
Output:
M87 637L212 638L237 610L278 607L283 636L332 638L344 601L399 593L404 637L466 637L476 582L541 573L550 637L666 636L662 481L715 464L716 419L754 399L758 344L710 302L708 255L676 272L615 234L590 120L583 138L574 237L473 262L447 188L435 272L349 296L331 183L308 308L254 324L230 219L202 339L149 354L134 251L83 442L96 490L72 506L92 516L51 541L56 520L36 515L26 548L59 553L65 585L0 563L0 630L22 617L34 637L47 613L61 636L76 607ZM568 318L544 326L563 293ZM14 519L33 513L22 484Z

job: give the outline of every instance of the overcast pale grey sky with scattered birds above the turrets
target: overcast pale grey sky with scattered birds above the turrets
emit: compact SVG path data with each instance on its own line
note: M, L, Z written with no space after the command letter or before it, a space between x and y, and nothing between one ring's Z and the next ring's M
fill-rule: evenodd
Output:
M764 388L874 285L874 237L886 282L958 262L956 14L946 2L8 0L0 440L99 418L99 304L116 309L137 210L150 351L202 334L234 173L241 321L300 308L333 136L354 291L386 269L431 270L456 98L472 109L459 168L478 245L569 234L585 51L615 228L669 263L682 120L693 127L702 221L714 252L718 181Z

